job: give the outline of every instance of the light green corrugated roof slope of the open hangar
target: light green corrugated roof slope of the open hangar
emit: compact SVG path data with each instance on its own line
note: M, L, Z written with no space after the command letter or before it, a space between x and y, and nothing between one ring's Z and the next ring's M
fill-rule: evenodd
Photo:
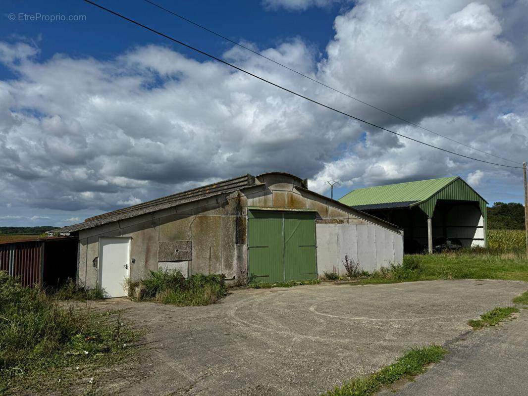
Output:
M338 201L354 207L392 202L420 202L429 199L429 197L457 178L458 176L441 177L417 182L357 188L357 190L351 191Z

